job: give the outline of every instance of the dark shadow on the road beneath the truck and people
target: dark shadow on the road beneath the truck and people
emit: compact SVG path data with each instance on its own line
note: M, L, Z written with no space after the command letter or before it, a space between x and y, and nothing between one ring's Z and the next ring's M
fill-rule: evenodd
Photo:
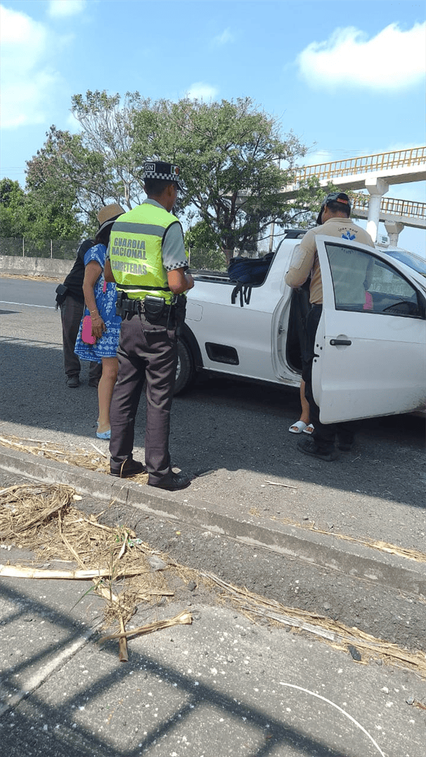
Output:
M2 422L71 434L76 444L95 438L96 390L65 386L61 347L40 341L3 338L2 391L8 398ZM257 472L288 476L340 491L360 492L424 508L424 419L388 416L359 422L352 453L334 463L307 458L296 449L299 437L288 426L299 413L294 390L265 387L202 375L195 387L174 399L171 454L182 469ZM143 446L145 400L136 419L136 444ZM1 428L0 428L1 431ZM4 432L7 433L7 431Z

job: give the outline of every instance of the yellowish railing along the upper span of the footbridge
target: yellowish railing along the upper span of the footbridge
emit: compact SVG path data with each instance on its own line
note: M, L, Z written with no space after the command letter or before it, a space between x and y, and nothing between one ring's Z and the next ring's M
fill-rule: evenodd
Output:
M332 163L319 163L305 166L297 171L296 182L302 182L316 176L321 180L330 180L335 176L353 176L356 173L370 171L387 171L394 168L407 168L426 162L426 147L414 147L408 150L381 152L375 155L349 157L346 160L334 160Z

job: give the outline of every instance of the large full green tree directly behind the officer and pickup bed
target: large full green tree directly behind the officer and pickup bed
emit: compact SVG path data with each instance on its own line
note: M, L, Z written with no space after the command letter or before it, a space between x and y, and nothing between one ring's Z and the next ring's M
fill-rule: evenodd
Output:
M204 103L188 98L139 100L133 112L135 163L146 157L180 165L189 217L218 235L227 257L250 249L272 221L287 223L293 209L278 194L306 148L250 98Z

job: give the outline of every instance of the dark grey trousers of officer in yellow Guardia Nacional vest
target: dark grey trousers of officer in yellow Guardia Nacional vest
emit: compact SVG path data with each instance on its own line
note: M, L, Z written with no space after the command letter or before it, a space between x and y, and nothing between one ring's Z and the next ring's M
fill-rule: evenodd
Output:
M150 484L171 469L168 438L177 340L174 329L166 329L166 324L164 318L152 326L143 315L122 322L117 383L109 413L111 465L118 466L132 454L136 411L146 378L145 464Z

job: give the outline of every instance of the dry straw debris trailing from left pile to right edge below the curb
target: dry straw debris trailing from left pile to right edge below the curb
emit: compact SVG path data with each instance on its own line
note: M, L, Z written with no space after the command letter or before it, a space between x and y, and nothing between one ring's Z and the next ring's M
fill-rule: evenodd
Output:
M294 631L306 631L326 640L334 648L351 653L365 664L368 658L383 659L393 665L415 671L426 678L424 652L402 650L396 644L376 639L359 628L348 628L338 621L281 605L245 588L234 586L218 576L197 572L174 562L166 553L152 550L149 544L136 537L134 531L122 525L110 527L99 523L97 516L86 516L75 508L80 500L74 490L54 484L20 484L0 491L0 541L35 550L37 560L54 562L72 560L77 570L51 570L37 566L0 566L0 575L27 578L82 578L82 572L94 572L93 591L105 600L104 628L113 628L108 638L119 641L120 659L127 659L127 637L147 634L177 623L190 623L190 613L176 618L148 623L126 630L125 625L135 614L138 605L147 609L174 596L177 582L188 589L215 589L218 601L236 607L251 621L268 620L277 626L287 625ZM153 559L155 558L155 559ZM36 568L36 569L34 569ZM106 640L104 638L103 640Z

